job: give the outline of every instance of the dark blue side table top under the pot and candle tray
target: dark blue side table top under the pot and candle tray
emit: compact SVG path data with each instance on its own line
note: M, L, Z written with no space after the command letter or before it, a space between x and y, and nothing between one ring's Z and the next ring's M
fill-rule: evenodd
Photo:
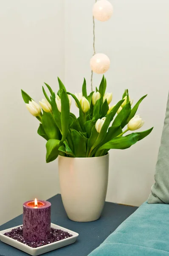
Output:
M48 201L52 204L51 222L79 233L79 237L76 243L42 254L44 256L87 256L138 208L106 202L99 220L83 223L68 219L61 195L55 195ZM0 230L22 224L22 218L23 216L19 215L8 221L0 226ZM28 254L0 241L0 256L28 256Z

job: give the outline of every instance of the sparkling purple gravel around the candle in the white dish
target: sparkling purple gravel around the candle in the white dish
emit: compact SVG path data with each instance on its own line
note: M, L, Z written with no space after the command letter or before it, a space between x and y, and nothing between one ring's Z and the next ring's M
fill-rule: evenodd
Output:
M23 244L26 244L32 248L40 247L45 244L51 244L56 241L60 241L60 240L63 240L63 239L66 239L66 238L72 236L68 232L65 232L63 230L56 230L51 227L51 238L50 239L48 239L47 241L41 241L41 242L29 242L29 241L25 241L23 239L23 226L17 227L15 229L11 230L10 232L6 232L4 235L8 236L16 241L19 241Z

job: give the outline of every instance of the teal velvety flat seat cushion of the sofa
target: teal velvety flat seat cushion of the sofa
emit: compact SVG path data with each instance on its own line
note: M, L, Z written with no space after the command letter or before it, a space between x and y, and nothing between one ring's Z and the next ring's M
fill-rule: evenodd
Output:
M169 256L169 205L141 205L90 256Z

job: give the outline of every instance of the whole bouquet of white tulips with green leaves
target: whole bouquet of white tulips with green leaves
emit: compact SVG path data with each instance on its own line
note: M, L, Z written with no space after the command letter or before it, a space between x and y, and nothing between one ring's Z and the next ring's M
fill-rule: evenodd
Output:
M124 136L127 131L138 130L144 124L141 117L135 113L146 95L139 99L132 108L132 100L128 90L125 90L122 99L116 105L110 106L112 93L105 93L107 82L104 76L99 89L96 87L96 91L90 95L87 95L85 79L82 93L75 95L66 91L59 78L58 81L57 94L45 83L50 96L42 87L45 99L42 99L39 104L22 90L28 111L40 122L37 132L47 140L47 163L55 160L58 155L66 157L103 156L111 148L129 148L152 131L151 128ZM70 112L72 98L79 108L78 118ZM123 128L125 128L124 131Z

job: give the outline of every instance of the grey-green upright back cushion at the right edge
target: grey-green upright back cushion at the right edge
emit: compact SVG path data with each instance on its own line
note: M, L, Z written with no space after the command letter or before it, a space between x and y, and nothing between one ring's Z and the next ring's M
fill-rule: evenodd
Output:
M155 169L155 184L152 186L152 193L149 195L148 203L169 204L169 96L158 161Z

